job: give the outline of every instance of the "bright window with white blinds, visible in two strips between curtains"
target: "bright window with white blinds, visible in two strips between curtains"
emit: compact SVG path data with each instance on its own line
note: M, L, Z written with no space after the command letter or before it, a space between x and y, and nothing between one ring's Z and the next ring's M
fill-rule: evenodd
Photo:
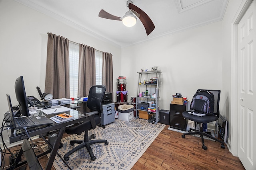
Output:
M78 97L79 44L69 41L70 97ZM102 52L95 51L96 85L102 85Z

